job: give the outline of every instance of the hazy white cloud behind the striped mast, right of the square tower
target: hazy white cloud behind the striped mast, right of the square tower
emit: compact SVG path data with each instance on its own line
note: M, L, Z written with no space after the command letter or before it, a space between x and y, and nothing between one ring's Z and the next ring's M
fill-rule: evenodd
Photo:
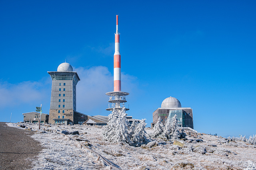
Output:
M113 75L108 68L95 66L89 69L79 67L74 68L74 70L76 70L81 79L76 89L77 111L89 115L108 113L105 112L109 98L109 96L106 96L106 92L112 92L114 84ZM128 87L126 90L133 91L137 89L134 76L122 74L122 80L123 84Z

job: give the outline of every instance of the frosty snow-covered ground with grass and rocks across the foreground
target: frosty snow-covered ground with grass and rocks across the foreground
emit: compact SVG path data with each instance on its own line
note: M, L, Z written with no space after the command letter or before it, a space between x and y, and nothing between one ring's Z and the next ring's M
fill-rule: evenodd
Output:
M18 127L18 123L8 123ZM38 124L24 124L38 129ZM146 146L133 147L126 143L110 143L104 141L101 126L84 125L42 125L41 129L52 129L62 132L79 131L80 135L68 135L75 138L87 139L91 149L98 152L112 164L122 170L169 170L169 169L246 169L256 170L256 145L242 141L228 139L186 131L188 140L178 145L175 141L164 141L154 138ZM21 127L18 127L21 128ZM24 128L22 128L24 129ZM146 129L151 133L151 129ZM88 149L80 149L75 141L69 141L63 135L56 133L35 133L32 135L44 147L42 153L33 161L36 170L107 170L106 164ZM80 141L81 142L81 141ZM82 143L87 144L86 141ZM151 146L150 146L151 144ZM176 144L176 145L174 145ZM153 145L153 146L152 146ZM183 145L183 146L179 146Z

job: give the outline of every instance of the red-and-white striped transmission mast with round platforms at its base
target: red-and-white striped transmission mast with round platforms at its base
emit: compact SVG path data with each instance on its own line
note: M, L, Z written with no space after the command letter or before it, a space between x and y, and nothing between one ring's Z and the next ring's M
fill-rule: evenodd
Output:
M121 55L120 55L120 33L118 32L118 15L116 15L116 33L115 33L115 53L114 53L114 91L108 92L106 95L110 96L108 108L106 110L113 111L117 109L120 111L125 107L127 95L129 93L121 91ZM125 108L125 110L129 110Z

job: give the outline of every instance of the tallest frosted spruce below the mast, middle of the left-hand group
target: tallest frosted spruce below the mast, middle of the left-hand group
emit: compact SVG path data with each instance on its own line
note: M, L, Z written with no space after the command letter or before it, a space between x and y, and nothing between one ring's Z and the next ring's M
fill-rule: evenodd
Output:
M119 113L116 121L113 142L124 142L130 144L129 121L126 118L125 107Z

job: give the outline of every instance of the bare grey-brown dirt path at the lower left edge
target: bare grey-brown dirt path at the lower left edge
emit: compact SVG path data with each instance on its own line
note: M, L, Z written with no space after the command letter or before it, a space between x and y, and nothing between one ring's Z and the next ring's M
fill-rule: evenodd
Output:
M31 168L31 159L43 149L30 137L33 133L0 122L0 170Z

